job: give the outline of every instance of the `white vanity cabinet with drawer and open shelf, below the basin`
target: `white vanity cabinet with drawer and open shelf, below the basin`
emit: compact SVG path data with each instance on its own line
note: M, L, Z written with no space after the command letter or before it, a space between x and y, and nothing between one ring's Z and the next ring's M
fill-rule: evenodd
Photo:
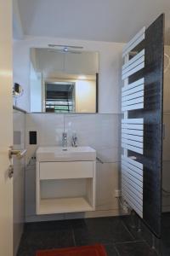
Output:
M95 177L96 160L37 157L37 214L94 211Z

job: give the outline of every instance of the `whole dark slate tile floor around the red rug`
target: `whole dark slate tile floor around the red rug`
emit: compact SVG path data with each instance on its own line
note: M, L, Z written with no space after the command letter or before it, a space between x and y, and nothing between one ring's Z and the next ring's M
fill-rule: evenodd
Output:
M17 256L36 256L37 250L94 243L104 244L108 256L157 256L146 241L127 230L120 217L26 224Z

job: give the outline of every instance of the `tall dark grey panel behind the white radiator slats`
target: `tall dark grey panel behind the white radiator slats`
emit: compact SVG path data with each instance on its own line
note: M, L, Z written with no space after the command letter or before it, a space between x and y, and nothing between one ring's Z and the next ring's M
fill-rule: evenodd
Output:
M164 15L145 32L144 110L131 111L130 118L144 118L144 155L135 154L144 164L144 223L161 236L161 169ZM134 77L131 78L135 79ZM129 152L129 155L134 155Z

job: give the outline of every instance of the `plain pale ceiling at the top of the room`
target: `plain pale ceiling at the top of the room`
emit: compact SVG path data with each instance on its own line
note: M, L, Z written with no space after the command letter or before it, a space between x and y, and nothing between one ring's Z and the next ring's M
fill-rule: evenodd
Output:
M24 34L37 37L127 42L163 12L170 23L170 0L18 0L18 9Z

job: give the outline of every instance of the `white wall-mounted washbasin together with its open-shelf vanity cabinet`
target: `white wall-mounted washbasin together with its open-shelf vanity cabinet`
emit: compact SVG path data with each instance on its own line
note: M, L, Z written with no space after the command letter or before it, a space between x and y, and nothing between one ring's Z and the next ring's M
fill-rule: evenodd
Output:
M94 148L40 147L36 158L37 215L95 210Z

